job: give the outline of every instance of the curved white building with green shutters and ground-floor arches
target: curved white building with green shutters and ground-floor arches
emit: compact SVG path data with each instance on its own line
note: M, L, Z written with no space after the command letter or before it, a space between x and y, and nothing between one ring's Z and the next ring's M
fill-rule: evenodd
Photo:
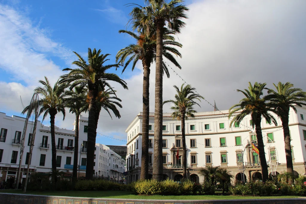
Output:
M224 114L225 113L225 114ZM194 119L185 121L188 178L202 182L200 168L220 165L227 168L235 179L260 179L261 169L258 154L252 150L256 143L256 132L251 127L250 117L240 124L233 124L226 116L228 110L196 113ZM290 110L289 129L293 150L295 174L304 174L306 164L306 108L297 107L297 113ZM285 144L281 121L275 116L278 126L262 120L262 132L268 170L272 175L286 171ZM127 180L140 178L142 113L129 124L127 133ZM163 174L164 177L182 178L181 121L163 113ZM269 138L269 139L268 139ZM149 118L149 176L152 176L154 155L154 113ZM177 150L179 158L176 158ZM242 165L243 164L243 165ZM244 167L244 168L243 168Z

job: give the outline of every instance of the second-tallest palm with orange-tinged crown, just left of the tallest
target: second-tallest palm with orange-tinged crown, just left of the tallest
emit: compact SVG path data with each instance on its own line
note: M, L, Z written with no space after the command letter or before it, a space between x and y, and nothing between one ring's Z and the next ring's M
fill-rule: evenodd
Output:
M138 60L142 61L144 69L144 78L143 78L143 93L142 93L142 102L143 102L143 113L142 113L142 143L141 143L141 173L140 180L148 179L148 163L149 163L149 77L150 77L150 66L153 60L156 60L156 35L145 35L144 33L133 33L126 30L120 30L119 33L126 33L136 39L136 44L130 44L125 48L118 51L116 56L116 62L124 64L125 59L129 57L129 60L126 61L122 73L125 68L129 65L131 61L132 71L135 68L136 62ZM174 37L171 35L174 32L167 31L164 33L163 44L164 44L164 56L171 61L175 66L181 69L181 66L177 63L175 58L171 53L181 57L181 53L178 52L174 47L169 45L175 45L182 47L181 43L175 41ZM163 63L163 70L166 72L167 77L169 78L169 71L165 63Z

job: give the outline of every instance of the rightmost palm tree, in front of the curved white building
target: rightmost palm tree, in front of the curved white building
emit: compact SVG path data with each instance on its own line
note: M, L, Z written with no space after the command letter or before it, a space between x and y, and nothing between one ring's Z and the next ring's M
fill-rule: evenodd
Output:
M285 153L287 161L287 172L293 175L293 163L290 144L290 132L289 132L289 110L292 108L295 112L297 109L295 106L302 107L306 105L306 92L300 88L293 88L293 84L287 82L283 84L278 82L277 85L273 83L276 91L273 89L268 90L268 94L271 94L271 102L274 104L274 112L280 117L283 126L284 140L285 140ZM292 184L292 180L289 179L289 183Z

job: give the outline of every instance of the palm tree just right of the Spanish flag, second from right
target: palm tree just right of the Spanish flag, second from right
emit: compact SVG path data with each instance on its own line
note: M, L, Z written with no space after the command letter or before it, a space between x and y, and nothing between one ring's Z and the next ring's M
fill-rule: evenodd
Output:
M255 125L257 136L263 182L268 180L268 168L263 145L263 135L260 126L261 117L263 116L267 121L272 121L275 125L277 125L275 118L273 115L271 115L271 111L273 111L273 109L271 103L269 103L270 96L266 95L261 98L265 86L266 83L255 82L254 86L252 86L251 82L249 82L248 89L244 89L244 91L237 90L238 92L243 93L245 98L241 99L240 103L235 104L229 109L230 113L228 116L230 118L234 113L238 112L232 119L230 123L231 126L234 122L240 124L244 117L251 115L251 119L253 121L252 128L254 128Z

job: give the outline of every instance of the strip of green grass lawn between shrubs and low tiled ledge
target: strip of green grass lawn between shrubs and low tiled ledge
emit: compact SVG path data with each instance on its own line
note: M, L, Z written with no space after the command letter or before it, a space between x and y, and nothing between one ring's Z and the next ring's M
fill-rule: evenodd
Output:
M19 193L21 190L1 190L0 193ZM298 196L233 196L233 195L136 195L132 191L27 191L26 194L56 195L91 198L124 198L124 199L175 199L175 200L224 200L224 199L267 199L298 198Z

